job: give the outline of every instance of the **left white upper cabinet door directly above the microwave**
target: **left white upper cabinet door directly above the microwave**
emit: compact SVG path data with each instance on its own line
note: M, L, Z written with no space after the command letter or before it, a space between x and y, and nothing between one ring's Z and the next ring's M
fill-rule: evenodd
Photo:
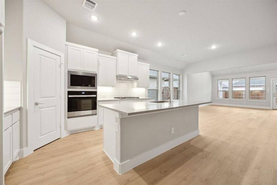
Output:
M84 50L78 47L67 46L68 69L83 70Z

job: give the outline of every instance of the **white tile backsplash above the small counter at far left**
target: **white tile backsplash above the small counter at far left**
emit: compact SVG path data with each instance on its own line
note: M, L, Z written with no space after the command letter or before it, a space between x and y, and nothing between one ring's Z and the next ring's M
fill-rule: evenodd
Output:
M4 107L21 106L21 81L4 80Z

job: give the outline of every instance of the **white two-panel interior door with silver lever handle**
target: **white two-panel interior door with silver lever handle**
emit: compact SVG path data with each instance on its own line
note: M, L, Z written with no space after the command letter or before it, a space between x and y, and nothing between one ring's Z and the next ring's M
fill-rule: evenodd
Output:
M61 136L60 91L61 57L34 47L33 52L34 106L31 116L34 125L34 150Z

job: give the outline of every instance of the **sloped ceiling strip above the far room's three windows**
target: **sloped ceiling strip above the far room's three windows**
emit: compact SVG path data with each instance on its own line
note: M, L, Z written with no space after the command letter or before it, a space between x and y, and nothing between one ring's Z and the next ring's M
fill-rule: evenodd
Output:
M230 68L230 69L222 69L211 71L212 76L224 76L224 75L236 75L236 74L245 74L245 73L253 73L253 72L265 72L265 71L277 71L277 63L269 63L269 64L260 64L260 65L252 65L252 66L244 66L239 68Z

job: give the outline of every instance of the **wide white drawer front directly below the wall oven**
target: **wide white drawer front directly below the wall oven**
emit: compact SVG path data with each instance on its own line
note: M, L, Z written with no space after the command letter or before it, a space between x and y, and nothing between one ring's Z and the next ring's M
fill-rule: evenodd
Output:
M97 115L73 117L67 119L67 130L78 130L97 125Z

